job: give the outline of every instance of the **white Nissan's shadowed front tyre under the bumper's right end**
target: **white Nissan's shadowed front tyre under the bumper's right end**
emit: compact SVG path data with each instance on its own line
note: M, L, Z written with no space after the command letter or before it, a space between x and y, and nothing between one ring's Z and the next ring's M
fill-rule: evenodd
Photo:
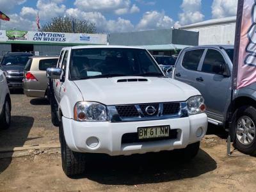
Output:
M182 161L190 161L198 154L199 148L200 148L200 141L189 144L186 148L177 150L177 155L179 159Z

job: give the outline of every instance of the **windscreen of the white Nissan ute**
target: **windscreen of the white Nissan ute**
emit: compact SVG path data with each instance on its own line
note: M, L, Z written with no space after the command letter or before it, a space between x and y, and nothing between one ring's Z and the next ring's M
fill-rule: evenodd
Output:
M144 49L93 48L72 50L70 79L115 76L161 76L163 73Z

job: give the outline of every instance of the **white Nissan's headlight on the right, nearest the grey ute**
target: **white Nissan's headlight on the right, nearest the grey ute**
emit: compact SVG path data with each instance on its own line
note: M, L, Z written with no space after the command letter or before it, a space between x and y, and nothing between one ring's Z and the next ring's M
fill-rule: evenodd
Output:
M201 95L190 97L187 100L188 115L203 113L206 109L204 98Z

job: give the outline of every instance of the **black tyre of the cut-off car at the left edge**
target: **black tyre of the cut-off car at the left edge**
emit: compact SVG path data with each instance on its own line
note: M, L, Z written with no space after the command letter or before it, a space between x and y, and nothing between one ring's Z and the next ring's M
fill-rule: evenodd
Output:
M4 101L3 111L0 115L0 129L8 129L11 124L11 101L6 97Z

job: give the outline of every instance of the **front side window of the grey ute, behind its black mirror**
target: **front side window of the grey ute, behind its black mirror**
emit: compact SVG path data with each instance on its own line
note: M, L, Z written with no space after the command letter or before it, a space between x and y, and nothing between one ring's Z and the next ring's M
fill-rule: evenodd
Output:
M208 49L202 66L202 72L211 74L224 74L227 72L225 63L226 61L219 51Z

